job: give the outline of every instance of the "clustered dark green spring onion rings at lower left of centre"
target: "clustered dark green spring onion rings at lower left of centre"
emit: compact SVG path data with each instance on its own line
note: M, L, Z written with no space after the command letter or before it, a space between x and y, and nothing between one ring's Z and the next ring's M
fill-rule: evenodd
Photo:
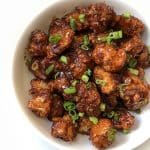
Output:
M71 116L73 123L75 123L75 121L79 119L79 115L76 113L76 110L75 110L76 109L75 104L71 101L65 101L63 106L64 106L64 109L68 111L69 116Z

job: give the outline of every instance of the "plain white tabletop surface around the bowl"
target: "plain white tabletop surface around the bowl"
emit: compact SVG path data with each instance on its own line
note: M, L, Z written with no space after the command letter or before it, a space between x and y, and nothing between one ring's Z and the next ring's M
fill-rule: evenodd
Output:
M10 52L14 50L11 49L11 47L14 48L18 33L24 30L26 20L30 20L29 18L31 18L32 15L36 15L41 7L47 6L49 1L50 0L5 0L0 6L0 149L56 150L32 133L26 122L21 118L22 116L18 114L19 111L18 108L15 107L13 97L9 96L11 91L9 91L8 85L10 84L11 78L8 77L7 80L5 78L6 74L10 73L10 64L7 62L11 59ZM135 1L136 0L131 0L131 3ZM140 3L141 5L144 4L144 0L141 1L136 1L138 7L140 7ZM148 12L149 8L147 6L148 5L145 5L143 10L147 10ZM138 150L148 150L149 147L150 142L147 142L138 148Z

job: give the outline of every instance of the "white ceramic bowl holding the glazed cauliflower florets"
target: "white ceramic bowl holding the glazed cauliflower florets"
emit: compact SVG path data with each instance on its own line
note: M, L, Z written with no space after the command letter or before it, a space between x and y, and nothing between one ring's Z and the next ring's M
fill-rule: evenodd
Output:
M41 29L47 31L50 19L53 16L63 16L64 13L72 10L75 6L79 5L88 5L94 2L102 2L101 0L56 0L50 5L40 12L40 14L33 18L32 22L29 23L26 30L22 33L22 36L18 42L16 47L15 55L14 55L14 64L13 64L13 81L15 92L18 100L18 104L21 108L21 111L24 113L26 120L32 125L33 129L40 135L43 139L45 139L48 143L54 145L59 149L68 149L68 150L91 150L95 149L91 142L88 140L87 136L78 135L77 138L73 142L64 142L60 139L53 138L50 135L51 123L46 119L41 119L34 115L30 110L27 109L26 103L29 98L28 90L29 83L32 78L31 73L28 71L27 67L24 65L24 50L28 43L28 38L31 31L35 29ZM136 6L129 5L127 2L121 2L119 0L107 0L107 4L114 7L117 13L123 13L124 11L129 11L133 15L142 19L144 23L146 23L145 14L139 14ZM150 37L149 29L146 26L146 31L143 36L143 39L146 44L148 44L148 37ZM19 63L18 63L19 62ZM148 76L150 76L150 70L146 70L146 78L148 80ZM142 114L136 116L136 123L132 132L128 135L123 135L118 133L116 137L116 142L110 146L109 149L116 150L129 150L137 147L145 140L147 140L149 135L149 124L147 120L149 120L150 116L150 105L147 105Z

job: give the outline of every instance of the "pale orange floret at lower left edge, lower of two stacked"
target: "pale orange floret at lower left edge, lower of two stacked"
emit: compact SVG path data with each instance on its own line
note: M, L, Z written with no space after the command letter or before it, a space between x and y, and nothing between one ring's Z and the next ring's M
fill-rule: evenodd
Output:
M51 108L51 100L45 95L40 95L29 100L27 106L37 116L47 117Z

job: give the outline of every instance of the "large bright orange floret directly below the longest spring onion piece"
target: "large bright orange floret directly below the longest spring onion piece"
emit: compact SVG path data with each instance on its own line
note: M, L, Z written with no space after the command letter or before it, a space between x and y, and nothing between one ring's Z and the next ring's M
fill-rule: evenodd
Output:
M121 70L126 62L126 53L123 49L116 50L111 45L96 45L92 53L93 60L108 72Z

